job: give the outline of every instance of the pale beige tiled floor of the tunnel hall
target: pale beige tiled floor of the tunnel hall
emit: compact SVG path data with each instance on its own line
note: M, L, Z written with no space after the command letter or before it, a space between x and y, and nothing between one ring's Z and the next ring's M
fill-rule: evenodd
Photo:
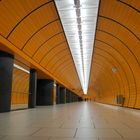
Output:
M0 140L140 140L140 110L81 102L1 113Z

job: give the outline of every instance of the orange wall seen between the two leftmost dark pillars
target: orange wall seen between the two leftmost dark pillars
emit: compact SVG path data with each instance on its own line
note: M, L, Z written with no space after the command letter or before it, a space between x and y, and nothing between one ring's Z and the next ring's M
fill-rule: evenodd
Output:
M11 105L18 108L28 105L29 74L17 68L13 69ZM16 107L17 106L17 107ZM25 107L25 106L23 106Z

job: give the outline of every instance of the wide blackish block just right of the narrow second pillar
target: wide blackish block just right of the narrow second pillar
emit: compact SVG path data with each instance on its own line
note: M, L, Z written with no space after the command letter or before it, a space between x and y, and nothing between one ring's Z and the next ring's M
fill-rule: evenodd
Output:
M37 80L37 105L53 105L54 82L52 80Z

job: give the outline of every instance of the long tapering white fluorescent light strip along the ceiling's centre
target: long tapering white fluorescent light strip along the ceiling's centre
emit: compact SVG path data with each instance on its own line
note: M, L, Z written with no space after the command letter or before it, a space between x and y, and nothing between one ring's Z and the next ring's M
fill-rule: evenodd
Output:
M84 94L87 94L99 0L55 0Z

